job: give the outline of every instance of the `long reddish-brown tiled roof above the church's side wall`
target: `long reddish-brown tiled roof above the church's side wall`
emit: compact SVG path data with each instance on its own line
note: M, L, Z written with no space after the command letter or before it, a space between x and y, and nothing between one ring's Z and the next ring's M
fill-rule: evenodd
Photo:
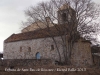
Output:
M65 30L64 27L57 25L54 27L50 27L49 29L45 28L45 29L39 29L36 31L12 34L4 42L7 43L7 42L15 42L15 41L21 41L21 40L46 38L46 37L50 37L50 36L59 36L59 35L64 34L64 30Z

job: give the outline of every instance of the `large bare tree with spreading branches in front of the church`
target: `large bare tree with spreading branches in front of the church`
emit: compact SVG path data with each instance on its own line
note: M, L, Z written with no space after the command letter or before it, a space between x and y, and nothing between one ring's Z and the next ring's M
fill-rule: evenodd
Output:
M27 22L24 22L24 25L35 22L42 29L37 23L37 21L41 21L53 39L59 54L59 61L61 61L57 42L51 33L50 24L52 24L63 42L65 63L71 64L71 51L75 41L82 35L92 39L89 35L97 30L96 25L98 24L95 20L99 17L99 12L99 5L96 5L91 0L51 0L49 2L41 2L37 6L27 9L25 14L28 19ZM54 20L58 24L55 24Z

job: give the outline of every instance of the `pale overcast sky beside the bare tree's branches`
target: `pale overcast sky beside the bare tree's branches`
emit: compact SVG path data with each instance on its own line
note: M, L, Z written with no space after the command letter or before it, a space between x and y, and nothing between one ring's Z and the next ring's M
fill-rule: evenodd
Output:
M24 10L48 0L0 0L0 52L3 42L13 33L20 33L21 22L26 20ZM93 0L100 4L100 0Z

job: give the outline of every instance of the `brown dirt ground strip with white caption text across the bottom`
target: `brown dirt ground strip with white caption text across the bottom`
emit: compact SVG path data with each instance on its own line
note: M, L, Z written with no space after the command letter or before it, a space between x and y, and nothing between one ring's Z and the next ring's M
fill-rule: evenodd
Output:
M37 66L27 67L5 67L0 70L0 75L100 75L97 67L70 67L70 66Z

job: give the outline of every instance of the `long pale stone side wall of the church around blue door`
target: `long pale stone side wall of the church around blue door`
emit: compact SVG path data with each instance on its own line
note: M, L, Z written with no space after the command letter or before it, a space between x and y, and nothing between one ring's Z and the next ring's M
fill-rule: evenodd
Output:
M55 37L62 55L63 51L60 37ZM54 49L51 48L54 46ZM59 55L51 38L41 38L33 40L22 40L16 42L4 43L4 59L35 59L36 53L39 52L41 59L52 59L59 61Z

